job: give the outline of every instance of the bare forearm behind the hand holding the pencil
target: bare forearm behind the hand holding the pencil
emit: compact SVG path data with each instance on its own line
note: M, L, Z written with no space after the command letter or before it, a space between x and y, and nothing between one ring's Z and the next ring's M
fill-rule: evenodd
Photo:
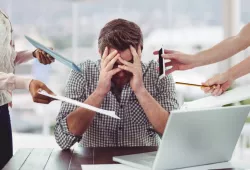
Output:
M232 80L236 80L250 73L250 56L227 71Z

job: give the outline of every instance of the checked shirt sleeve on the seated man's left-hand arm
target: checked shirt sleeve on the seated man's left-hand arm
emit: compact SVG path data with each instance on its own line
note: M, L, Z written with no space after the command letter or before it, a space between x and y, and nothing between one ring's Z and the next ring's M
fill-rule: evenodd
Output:
M72 70L67 81L65 97L77 100L79 102L85 101L85 85L86 81L83 74ZM75 109L77 109L77 106L62 102L59 114L56 119L54 134L56 142L62 149L69 149L82 138L82 136L75 136L72 134L69 131L67 125L67 115Z

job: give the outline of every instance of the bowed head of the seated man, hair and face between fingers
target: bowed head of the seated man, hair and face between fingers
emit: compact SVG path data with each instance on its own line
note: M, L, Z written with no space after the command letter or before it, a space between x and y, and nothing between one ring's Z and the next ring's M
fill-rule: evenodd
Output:
M134 22L124 19L114 19L108 22L100 31L98 38L99 53L102 55L105 47L108 47L109 53L117 50L122 59L133 63L133 56L129 46L134 48L143 48L143 37L140 27ZM121 64L117 61L114 67ZM120 71L113 76L112 81L119 85L129 82L131 73Z

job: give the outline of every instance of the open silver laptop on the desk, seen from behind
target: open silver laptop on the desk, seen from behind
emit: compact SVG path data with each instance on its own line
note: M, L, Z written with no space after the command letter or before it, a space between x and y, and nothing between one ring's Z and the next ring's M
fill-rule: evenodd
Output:
M157 152L115 156L139 169L169 170L227 162L250 105L172 111Z

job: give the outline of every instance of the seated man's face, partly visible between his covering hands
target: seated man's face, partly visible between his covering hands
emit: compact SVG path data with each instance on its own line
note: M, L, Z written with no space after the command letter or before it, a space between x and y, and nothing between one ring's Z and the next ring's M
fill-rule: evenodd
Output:
M114 48L110 48L109 54L114 50L115 50ZM133 63L133 56L131 54L130 49L126 49L125 51L122 51L119 53L120 53L120 57L123 60ZM123 64L119 60L117 60L113 68L117 68L118 65L123 65ZM115 83L115 85L122 87L123 85L127 84L131 78L132 78L132 74L130 72L121 70L120 72L115 74L111 80L113 83Z

